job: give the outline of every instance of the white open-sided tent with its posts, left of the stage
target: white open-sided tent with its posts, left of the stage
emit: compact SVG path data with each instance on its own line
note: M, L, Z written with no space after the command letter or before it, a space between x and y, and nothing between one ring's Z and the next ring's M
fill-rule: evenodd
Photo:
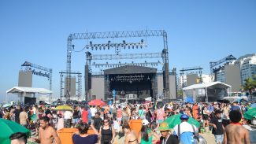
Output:
M35 87L13 87L6 91L6 102L7 102L7 94L19 94L20 102L23 102L23 98L26 95L33 94L35 98L35 94L52 94L51 90L47 90L45 88L35 88ZM50 96L51 97L51 96Z

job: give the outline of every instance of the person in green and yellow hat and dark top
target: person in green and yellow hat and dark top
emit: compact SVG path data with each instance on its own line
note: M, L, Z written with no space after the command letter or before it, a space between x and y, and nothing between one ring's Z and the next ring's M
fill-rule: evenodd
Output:
M179 140L174 135L170 134L171 129L169 128L169 125L165 122L161 123L159 125L158 130L161 133L160 137L160 143L161 144L178 144Z

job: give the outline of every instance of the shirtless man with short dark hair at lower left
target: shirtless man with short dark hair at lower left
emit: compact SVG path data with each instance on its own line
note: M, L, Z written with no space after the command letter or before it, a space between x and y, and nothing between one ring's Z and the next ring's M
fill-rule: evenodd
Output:
M58 138L57 132L53 127L49 126L49 117L43 116L40 119L39 138L35 139L35 142L41 144L58 143L61 144L60 138Z

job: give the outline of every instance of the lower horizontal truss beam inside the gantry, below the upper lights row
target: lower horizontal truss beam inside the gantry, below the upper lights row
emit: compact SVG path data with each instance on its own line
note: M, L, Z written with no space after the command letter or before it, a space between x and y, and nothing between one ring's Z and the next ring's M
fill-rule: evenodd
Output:
M91 60L117 60L117 59L142 59L161 58L161 53L141 53L141 54L95 54L91 55Z

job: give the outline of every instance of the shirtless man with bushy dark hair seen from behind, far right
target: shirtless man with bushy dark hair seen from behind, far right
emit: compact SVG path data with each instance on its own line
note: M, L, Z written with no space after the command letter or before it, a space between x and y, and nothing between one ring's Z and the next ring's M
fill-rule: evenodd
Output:
M232 110L229 118L231 123L224 129L224 144L250 143L249 132L239 123L242 114L238 110Z

